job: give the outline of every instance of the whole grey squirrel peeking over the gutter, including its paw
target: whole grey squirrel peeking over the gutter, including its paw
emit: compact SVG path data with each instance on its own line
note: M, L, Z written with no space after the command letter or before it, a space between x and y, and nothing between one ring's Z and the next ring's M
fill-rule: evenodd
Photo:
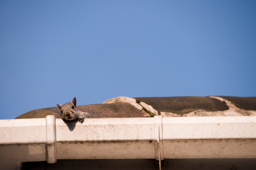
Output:
M73 98L72 102L60 105L57 103L57 106L60 108L61 119L68 121L77 120L80 123L84 122L84 118L91 118L91 115L87 112L83 112L77 109L76 107L76 97Z

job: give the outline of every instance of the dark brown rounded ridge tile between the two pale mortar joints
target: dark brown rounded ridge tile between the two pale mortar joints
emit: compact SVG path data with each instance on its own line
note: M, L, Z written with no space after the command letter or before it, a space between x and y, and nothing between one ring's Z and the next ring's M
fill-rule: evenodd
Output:
M138 97L136 101L151 105L160 112L187 114L195 110L224 111L229 107L225 102L210 97Z

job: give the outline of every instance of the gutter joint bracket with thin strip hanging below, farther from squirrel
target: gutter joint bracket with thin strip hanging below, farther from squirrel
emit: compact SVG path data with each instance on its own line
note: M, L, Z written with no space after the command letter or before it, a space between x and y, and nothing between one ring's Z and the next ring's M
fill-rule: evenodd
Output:
M161 170L161 160L164 160L162 116L154 116L154 132L156 160L159 160Z

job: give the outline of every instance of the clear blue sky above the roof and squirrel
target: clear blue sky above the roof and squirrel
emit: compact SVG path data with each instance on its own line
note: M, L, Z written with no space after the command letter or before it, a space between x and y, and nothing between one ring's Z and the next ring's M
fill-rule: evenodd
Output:
M107 99L256 96L256 1L0 1L0 119Z

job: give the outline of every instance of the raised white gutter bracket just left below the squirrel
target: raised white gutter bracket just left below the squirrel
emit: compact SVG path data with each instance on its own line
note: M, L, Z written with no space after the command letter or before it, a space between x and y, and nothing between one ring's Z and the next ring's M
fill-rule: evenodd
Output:
M56 126L55 117L48 115L45 117L46 127L46 159L47 163L56 163Z

